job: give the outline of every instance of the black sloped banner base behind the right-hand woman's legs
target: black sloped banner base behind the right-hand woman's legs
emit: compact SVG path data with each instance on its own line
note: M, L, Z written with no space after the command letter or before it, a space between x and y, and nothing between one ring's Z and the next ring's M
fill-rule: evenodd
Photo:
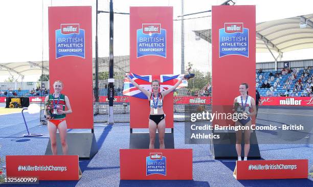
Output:
M219 139L211 140L211 153L216 158L238 158L236 152L236 133L235 132L213 132L218 134ZM241 156L244 156L244 134L242 133ZM259 145L255 132L250 136L250 151L248 158L261 158Z

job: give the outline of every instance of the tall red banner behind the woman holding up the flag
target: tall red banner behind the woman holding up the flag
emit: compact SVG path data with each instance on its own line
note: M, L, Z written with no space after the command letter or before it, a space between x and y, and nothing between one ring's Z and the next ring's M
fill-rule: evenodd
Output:
M130 7L130 72L173 74L173 8ZM130 97L130 128L148 128L147 100ZM166 128L173 127L173 95L164 98Z

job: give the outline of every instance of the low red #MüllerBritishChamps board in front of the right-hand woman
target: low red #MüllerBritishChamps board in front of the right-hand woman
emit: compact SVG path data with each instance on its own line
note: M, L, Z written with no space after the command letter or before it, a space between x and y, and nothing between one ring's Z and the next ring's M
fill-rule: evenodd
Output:
M307 178L308 160L248 160L237 161L237 180Z

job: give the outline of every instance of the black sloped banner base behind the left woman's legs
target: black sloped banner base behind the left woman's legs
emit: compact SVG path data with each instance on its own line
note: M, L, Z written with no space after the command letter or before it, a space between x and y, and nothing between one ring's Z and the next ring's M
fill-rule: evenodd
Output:
M62 155L60 135L57 133L58 155ZM78 155L79 158L90 159L95 156L99 148L94 133L67 133L66 142L68 143L68 154ZM46 155L52 155L51 139L46 149Z

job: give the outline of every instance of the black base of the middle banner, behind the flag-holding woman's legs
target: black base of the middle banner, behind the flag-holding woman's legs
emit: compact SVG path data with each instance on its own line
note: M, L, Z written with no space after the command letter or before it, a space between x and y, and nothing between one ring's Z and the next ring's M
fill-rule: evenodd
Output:
M132 132L130 130L129 149L149 149L150 136L149 132ZM174 131L165 132L164 137L165 149L174 149ZM159 133L155 134L154 148L159 149Z

